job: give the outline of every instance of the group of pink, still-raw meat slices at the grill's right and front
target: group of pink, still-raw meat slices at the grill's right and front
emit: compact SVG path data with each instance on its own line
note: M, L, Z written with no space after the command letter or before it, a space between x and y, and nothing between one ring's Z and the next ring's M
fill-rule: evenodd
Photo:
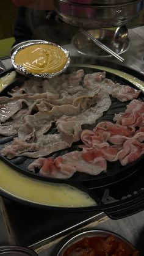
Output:
M129 104L130 107L128 105L126 111L131 109L133 103ZM135 106L136 111L142 110L143 103L137 101L137 104L139 107ZM121 122L124 114L120 117ZM118 123L100 122L93 131L82 131L81 140L84 142L84 145L80 146L83 149L82 152L70 152L56 159L39 158L30 164L29 170L34 171L38 167L41 175L70 178L76 171L97 175L107 169L106 161L119 160L122 166L126 166L144 153L144 144L142 143L144 141L144 126L135 130L135 126L132 125L122 126Z

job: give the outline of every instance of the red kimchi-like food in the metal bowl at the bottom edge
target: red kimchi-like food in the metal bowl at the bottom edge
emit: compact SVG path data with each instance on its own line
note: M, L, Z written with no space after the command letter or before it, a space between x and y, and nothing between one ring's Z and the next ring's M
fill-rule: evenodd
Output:
M68 247L62 256L139 256L139 252L109 235L85 237Z

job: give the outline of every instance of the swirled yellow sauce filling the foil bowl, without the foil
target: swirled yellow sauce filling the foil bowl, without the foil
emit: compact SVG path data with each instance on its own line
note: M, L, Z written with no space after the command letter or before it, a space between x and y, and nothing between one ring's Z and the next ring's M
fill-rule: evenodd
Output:
M15 64L34 74L57 73L63 70L68 56L60 47L40 43L22 48L15 55Z

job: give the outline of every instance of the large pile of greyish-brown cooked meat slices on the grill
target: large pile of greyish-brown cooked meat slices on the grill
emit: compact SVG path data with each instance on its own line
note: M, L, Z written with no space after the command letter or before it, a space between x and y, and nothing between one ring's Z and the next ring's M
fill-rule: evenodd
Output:
M30 79L21 88L15 87L10 92L11 98L0 98L0 134L5 134L4 126L7 135L18 134L18 139L9 147L5 146L1 154L8 158L16 155L38 158L70 147L73 142L79 141L82 125L92 125L110 108L110 95L126 101L137 98L139 93L139 90L107 79L106 72L84 76L84 70L77 70L41 80L40 84ZM10 107L12 104L13 108ZM23 108L27 111L18 126L15 115ZM49 144L52 135L48 132L52 123L56 123L59 132L57 147L55 141L54 145L52 142Z

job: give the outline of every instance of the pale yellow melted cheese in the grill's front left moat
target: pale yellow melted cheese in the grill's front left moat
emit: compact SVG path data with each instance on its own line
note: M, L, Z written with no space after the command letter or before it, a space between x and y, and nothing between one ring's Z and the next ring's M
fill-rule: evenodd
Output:
M73 186L35 180L0 161L0 188L10 196L54 207L92 207L97 205L87 193Z

